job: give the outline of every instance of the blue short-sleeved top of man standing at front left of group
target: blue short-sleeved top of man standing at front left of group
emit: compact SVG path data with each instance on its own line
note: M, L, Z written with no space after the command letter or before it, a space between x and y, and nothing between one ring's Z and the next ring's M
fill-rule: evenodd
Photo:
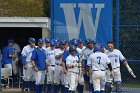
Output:
M31 60L35 62L38 70L46 69L46 54L44 49L35 48L32 52Z

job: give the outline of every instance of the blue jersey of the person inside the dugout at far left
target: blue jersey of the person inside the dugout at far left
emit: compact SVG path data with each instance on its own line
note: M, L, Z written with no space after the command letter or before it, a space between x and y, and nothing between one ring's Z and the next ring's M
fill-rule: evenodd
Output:
M11 64L12 57L9 57L10 54L13 54L12 46L7 46L2 51L2 62L3 64Z

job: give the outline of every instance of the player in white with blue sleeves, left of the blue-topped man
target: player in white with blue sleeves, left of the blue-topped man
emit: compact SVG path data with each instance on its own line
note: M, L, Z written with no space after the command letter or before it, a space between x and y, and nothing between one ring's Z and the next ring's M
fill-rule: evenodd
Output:
M34 69L31 64L32 52L35 49L35 39L29 38L29 44L22 50L22 63L23 63L23 86L25 91L33 90L35 86L34 82Z

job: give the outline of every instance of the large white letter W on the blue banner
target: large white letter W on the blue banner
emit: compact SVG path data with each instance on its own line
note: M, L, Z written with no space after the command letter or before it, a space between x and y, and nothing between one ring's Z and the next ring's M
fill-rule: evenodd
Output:
M95 4L95 8L97 8L96 19L94 22L95 25L92 16L93 4L78 4L78 7L80 8L78 24L76 23L74 13L74 8L76 8L75 3L63 3L60 4L60 7L63 8L64 11L69 39L79 38L82 21L86 37L96 39L100 13L101 9L104 8L104 4Z

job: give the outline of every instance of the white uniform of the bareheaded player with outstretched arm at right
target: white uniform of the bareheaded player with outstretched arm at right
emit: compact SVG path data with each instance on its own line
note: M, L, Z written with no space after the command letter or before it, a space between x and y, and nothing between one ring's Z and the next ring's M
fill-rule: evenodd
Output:
M124 61L125 57L117 49L114 49L112 52L107 50L105 53L108 55L108 57L111 61L114 82L121 81L120 62ZM107 82L112 82L112 80L113 80L113 78L110 77L109 70L107 71L106 79L107 79Z

